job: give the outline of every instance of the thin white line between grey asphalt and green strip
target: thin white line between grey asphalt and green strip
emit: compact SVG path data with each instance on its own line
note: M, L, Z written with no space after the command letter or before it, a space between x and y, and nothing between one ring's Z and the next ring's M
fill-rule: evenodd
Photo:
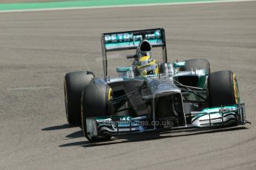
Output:
M111 6L96 6L96 7L56 7L56 8L42 8L30 10L0 10L0 13L16 13L16 12L30 12L30 11L49 11L49 10L82 10L82 9L98 9L98 8L112 8L112 7L149 7L149 6L163 6L163 5L180 5L180 4L212 4L224 2L238 2L238 1L256 1L256 0L219 0L219 1L194 1L194 2L167 2L159 4L125 4L125 5L111 5ZM0 4L1 5L1 4Z

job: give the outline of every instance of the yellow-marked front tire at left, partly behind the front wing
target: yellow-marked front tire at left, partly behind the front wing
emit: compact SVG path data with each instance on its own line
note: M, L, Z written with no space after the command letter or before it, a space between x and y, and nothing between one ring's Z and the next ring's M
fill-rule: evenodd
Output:
M89 84L83 90L81 103L82 131L88 140L111 138L111 136L91 137L86 126L86 118L111 115L111 98L113 98L113 93L108 84Z

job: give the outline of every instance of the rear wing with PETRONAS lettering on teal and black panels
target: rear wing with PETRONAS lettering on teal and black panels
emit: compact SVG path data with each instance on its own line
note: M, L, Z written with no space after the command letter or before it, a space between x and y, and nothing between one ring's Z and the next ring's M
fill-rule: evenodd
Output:
M148 40L152 47L162 47L163 62L166 63L167 52L165 44L165 30L163 28L102 33L102 61L104 76L108 76L107 52L137 49L140 41L144 39Z

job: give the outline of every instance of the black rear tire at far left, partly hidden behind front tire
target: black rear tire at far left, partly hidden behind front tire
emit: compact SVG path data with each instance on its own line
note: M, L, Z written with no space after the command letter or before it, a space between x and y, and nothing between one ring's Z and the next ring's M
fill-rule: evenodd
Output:
M82 89L91 82L94 77L92 72L69 72L65 75L64 94L66 118L73 126L81 125L81 95Z

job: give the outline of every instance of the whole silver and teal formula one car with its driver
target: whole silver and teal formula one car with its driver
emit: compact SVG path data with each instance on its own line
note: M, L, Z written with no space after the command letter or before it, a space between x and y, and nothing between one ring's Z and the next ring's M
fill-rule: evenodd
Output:
M152 47L162 47L162 62ZM110 78L107 52L134 49L126 56L133 64ZM163 28L103 33L102 57L104 78L89 71L65 75L68 123L82 125L88 140L249 123L234 72L211 72L206 59L168 63Z

